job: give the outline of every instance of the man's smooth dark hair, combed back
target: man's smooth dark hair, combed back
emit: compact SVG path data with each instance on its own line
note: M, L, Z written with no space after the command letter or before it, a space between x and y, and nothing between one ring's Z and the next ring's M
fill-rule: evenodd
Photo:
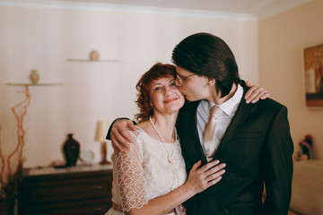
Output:
M171 60L191 73L215 79L221 97L229 94L233 82L240 83L238 65L230 47L209 33L196 33L174 47Z

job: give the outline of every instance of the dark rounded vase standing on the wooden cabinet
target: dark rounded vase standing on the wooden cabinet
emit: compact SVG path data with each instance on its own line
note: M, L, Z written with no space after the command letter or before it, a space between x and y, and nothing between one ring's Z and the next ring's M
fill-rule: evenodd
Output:
M80 143L74 140L73 133L67 134L67 141L63 148L66 160L65 167L75 166L80 155Z

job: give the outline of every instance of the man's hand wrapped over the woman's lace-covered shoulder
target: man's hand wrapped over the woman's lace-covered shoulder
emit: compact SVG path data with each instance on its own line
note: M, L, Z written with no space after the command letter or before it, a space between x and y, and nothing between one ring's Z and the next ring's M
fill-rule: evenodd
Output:
M135 131L135 125L133 121L129 119L117 120L111 128L110 139L113 150L118 153L123 151L124 148L129 148L128 142L133 142L132 136L127 132L127 128Z

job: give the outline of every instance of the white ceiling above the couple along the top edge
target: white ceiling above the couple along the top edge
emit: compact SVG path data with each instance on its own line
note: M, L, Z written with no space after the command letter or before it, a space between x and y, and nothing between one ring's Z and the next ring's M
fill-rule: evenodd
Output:
M312 0L0 0L11 4L68 4L83 7L114 7L131 10L245 14L258 19L284 12Z

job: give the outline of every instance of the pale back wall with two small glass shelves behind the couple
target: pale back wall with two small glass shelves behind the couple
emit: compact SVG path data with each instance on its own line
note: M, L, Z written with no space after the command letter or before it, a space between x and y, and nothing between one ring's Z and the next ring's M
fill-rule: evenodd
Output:
M136 13L0 6L0 125L4 154L13 150L16 120L10 108L23 99L23 87L6 82L30 82L39 69L39 82L63 86L30 87L31 106L25 116L25 167L63 159L66 133L74 133L82 149L93 150L96 122L136 111L135 83L157 61L170 63L172 48L188 35L207 31L232 48L242 78L258 83L258 22L246 19L176 14ZM117 63L68 62L88 58L92 49ZM111 148L109 148L111 152Z

